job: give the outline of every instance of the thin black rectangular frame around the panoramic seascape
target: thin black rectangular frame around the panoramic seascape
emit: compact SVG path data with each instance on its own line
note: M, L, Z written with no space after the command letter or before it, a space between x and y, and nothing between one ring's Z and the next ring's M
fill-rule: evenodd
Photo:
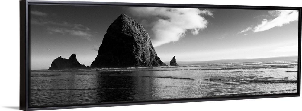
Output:
M132 102L114 102L114 103L93 103L93 104L75 104L75 105L49 105L49 106L29 106L30 92L30 63L29 63L29 12L30 4L49 4L49 5L105 5L105 6L145 6L145 7L191 7L191 8L220 8L220 9L254 9L254 10L298 10L298 89L297 93L287 94L270 94L270 95L244 95L231 97L207 97L207 98L189 98L189 99L169 99L156 101L132 101ZM125 105L142 105L142 104L166 104L182 102L199 102L199 101L222 101L222 100L239 100L239 99L256 99L256 98L278 98L278 97L296 97L300 96L300 65L301 65L301 7L273 7L273 6L234 6L234 5L200 5L200 4L151 4L151 3L113 3L113 2L79 2L79 1L20 1L20 110L53 110L69 108L88 108L88 107L109 107Z

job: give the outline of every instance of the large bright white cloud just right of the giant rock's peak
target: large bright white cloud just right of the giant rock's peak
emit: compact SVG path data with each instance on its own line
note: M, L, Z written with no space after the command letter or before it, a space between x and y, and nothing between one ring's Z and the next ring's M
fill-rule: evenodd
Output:
M193 8L130 7L129 10L141 19L143 26L151 27L154 47L178 41L186 32L199 34L208 24L203 16L213 16L209 10Z

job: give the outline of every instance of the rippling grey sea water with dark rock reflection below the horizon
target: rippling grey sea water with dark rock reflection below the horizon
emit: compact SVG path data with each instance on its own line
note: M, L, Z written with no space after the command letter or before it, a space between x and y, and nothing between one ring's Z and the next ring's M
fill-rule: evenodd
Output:
M297 61L31 70L31 106L297 92Z

